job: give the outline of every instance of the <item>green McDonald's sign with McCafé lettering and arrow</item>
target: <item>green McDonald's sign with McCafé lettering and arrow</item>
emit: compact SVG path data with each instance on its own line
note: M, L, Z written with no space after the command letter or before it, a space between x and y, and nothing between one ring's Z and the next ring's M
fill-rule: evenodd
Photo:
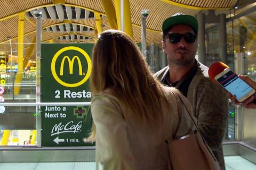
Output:
M91 101L89 77L93 44L42 44L41 101ZM92 146L90 106L44 106L42 146Z

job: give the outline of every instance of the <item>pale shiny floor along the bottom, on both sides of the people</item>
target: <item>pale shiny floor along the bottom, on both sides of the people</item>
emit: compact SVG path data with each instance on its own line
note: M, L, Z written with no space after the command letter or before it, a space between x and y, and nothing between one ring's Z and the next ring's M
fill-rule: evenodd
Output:
M256 165L241 156L226 156L226 170L256 170ZM0 163L1 170L94 170L95 162ZM99 166L99 170L101 166Z

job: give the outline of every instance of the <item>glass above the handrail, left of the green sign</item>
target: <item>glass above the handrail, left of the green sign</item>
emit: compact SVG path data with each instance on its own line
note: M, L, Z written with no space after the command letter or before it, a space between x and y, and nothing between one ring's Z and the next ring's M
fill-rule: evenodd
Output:
M0 44L0 83L4 89L2 96L6 102L35 101L36 63L33 55L26 56L29 45L31 44L24 45L24 59L21 59L20 62L23 64L23 68L19 73L18 52L15 50L17 44L12 44L12 48L10 48L10 44ZM13 50L11 51L11 49ZM21 74L20 79L18 74Z

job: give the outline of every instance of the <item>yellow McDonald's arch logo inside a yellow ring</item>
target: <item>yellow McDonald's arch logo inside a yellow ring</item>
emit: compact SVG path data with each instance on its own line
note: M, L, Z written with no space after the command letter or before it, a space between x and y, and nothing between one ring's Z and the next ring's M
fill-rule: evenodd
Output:
M55 64L56 64L56 61L57 61L58 57L60 56L60 54L62 54L63 52L66 52L67 50L76 50L76 51L80 52L81 54L83 54L83 56L85 57L85 60L87 61L88 69L87 69L87 72L85 74L85 77L81 81L78 81L76 83L67 83L67 82L62 81L59 78L59 76L57 75L57 72L55 70ZM73 56L73 58L71 60L70 60L70 57L68 57L68 56L65 56L65 57L62 58L62 61L61 61L61 64L60 64L60 75L63 75L63 69L64 69L65 60L68 61L69 74L73 74L74 62L75 62L75 60L77 60L78 69L79 69L79 75L83 75L81 60L80 60L80 58L78 56ZM58 50L58 52L53 56L52 63L51 63L51 71L52 71L53 78L58 83L60 83L61 85L66 86L66 87L81 86L90 77L90 74L91 74L91 71L92 71L91 58L82 48L75 47L75 46L64 47L64 48L61 48L60 50Z

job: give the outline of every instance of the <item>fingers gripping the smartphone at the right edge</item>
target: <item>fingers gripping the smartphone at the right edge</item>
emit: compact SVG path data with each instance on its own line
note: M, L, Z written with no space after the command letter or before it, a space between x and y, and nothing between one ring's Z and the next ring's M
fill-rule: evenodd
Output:
M252 79L250 79L247 75L238 75L238 77L242 80L244 80L245 82L247 82L249 85L251 85L251 87L253 89L256 89L256 82L253 81ZM245 100L242 104L239 103L236 100L236 96L235 95L231 95L230 92L228 93L228 97L230 98L230 100L237 105L242 105L244 108L256 108L256 95L252 95L249 99Z

